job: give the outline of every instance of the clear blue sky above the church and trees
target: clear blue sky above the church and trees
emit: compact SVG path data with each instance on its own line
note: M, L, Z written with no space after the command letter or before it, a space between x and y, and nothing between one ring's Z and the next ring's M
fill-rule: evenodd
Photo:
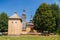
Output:
M60 0L0 0L0 12L6 12L8 16L11 16L16 11L21 17L22 11L26 10L26 21L28 22L30 16L34 16L36 9L43 2L60 5Z

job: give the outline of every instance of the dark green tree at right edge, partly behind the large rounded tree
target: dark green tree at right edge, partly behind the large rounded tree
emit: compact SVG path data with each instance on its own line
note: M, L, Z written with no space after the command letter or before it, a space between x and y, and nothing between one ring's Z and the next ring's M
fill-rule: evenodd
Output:
M53 16L56 19L55 20L56 21L55 31L56 31L57 28L59 27L59 6L56 3L51 4L51 10L52 10Z

